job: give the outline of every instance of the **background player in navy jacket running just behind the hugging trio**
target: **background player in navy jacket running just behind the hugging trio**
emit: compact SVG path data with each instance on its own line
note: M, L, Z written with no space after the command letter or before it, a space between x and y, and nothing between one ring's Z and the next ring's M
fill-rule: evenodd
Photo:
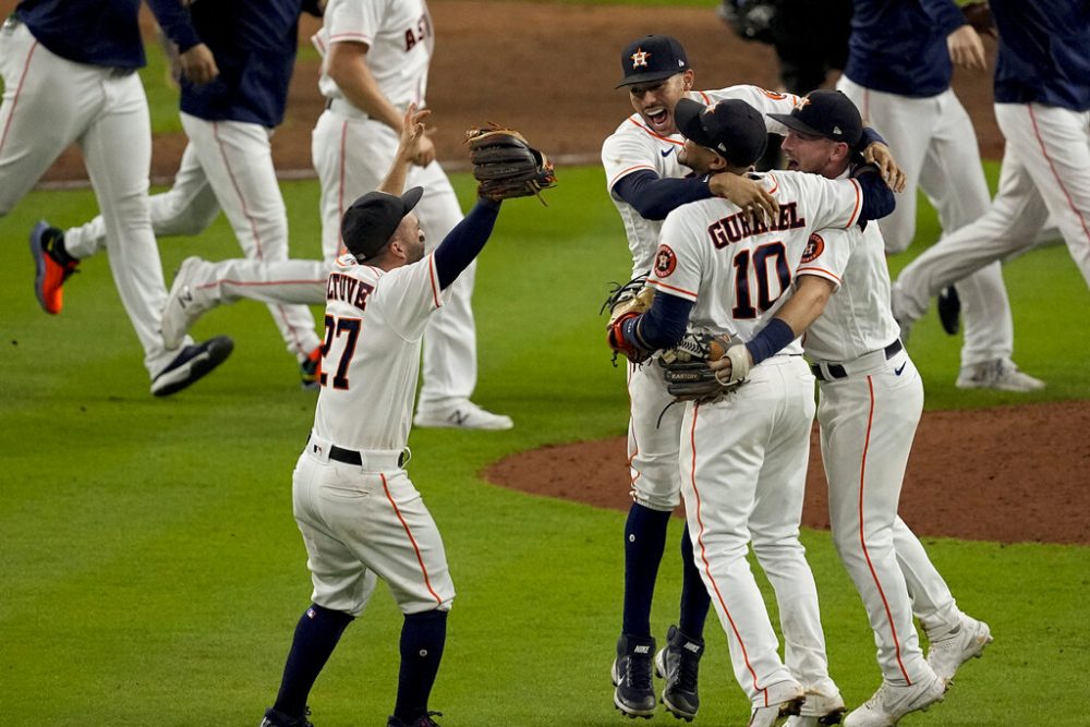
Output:
M907 250L916 234L917 185L937 210L945 234L988 209L972 122L949 87L952 64L984 68L980 37L953 0L856 0L848 62L836 87L897 149L908 175L909 194L879 225L889 254ZM1010 361L1014 327L1000 265L960 281L957 296L965 317L957 386L1042 388ZM956 320L950 312L948 331L956 332ZM989 375L996 371L1002 375Z

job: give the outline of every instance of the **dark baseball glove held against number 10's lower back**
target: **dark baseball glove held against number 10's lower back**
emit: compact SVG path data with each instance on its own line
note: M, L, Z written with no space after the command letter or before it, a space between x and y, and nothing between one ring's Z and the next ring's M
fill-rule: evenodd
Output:
M741 386L744 377L734 377L724 371L712 371L708 362L718 361L732 348L742 347L726 334L686 332L681 342L664 351L659 362L666 369L666 390L679 401L707 403L717 401ZM744 347L742 347L744 348Z

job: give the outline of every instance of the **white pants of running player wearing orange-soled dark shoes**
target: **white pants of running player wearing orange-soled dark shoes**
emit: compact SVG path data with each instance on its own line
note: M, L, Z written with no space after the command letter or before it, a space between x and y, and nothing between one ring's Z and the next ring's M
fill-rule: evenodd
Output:
M152 197L156 237L198 234L222 207L247 259L287 260L288 215L272 166L268 130L240 121L181 117L190 143L173 186ZM102 233L102 221L97 217L68 230L64 244L73 256L84 258L101 249ZM319 342L311 311L279 300L266 303L288 351L302 361Z

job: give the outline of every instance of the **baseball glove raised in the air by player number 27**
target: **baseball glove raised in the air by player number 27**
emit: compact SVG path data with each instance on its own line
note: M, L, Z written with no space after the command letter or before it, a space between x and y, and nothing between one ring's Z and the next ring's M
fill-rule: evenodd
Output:
M477 196L488 199L537 196L556 186L553 162L512 129L491 124L465 132ZM545 201L542 199L542 204Z

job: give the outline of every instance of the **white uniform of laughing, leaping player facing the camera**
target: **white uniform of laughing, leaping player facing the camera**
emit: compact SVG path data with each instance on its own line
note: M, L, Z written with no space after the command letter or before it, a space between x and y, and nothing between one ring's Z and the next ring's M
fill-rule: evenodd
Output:
M765 116L772 133L786 133L786 129L767 114L790 113L798 100L796 96L756 86L691 92L688 97L704 105L728 98L741 99ZM682 146L685 138L680 134L656 134L639 113L625 119L602 145L606 186L625 223L633 277L651 270L663 221L643 218L635 208L613 193L614 185L627 174L642 170L654 171L663 179L685 177L691 170L677 160L677 153ZM629 364L628 391L631 400L628 458L632 497L652 510L673 510L681 497L677 473L681 410L669 405L674 397L666 391L666 384L656 366Z

